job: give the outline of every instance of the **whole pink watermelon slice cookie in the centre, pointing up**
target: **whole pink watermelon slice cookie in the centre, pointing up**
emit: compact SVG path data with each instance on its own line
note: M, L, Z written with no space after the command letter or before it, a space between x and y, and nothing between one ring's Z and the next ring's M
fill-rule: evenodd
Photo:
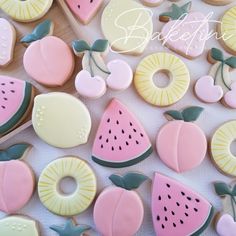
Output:
M152 153L151 142L139 121L118 100L106 108L92 149L96 163L121 168L134 165Z

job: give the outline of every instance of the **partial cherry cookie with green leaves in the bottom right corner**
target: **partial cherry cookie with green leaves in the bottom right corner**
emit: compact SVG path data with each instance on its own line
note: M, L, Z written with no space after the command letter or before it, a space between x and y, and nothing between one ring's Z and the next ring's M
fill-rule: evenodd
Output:
M220 236L235 236L236 231L236 185L224 182L214 183L215 191L221 197L223 211L216 216L215 229Z

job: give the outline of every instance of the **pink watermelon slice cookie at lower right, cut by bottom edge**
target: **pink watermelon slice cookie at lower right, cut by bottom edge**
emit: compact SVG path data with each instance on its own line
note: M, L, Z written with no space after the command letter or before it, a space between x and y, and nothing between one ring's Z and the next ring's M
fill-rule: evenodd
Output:
M152 220L156 235L201 235L213 217L212 205L187 186L155 173Z

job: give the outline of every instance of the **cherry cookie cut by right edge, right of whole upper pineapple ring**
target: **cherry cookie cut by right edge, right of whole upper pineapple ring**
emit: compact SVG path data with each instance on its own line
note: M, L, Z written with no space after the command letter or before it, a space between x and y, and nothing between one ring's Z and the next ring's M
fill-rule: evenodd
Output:
M230 70L236 68L236 57L224 59L222 51L212 48L208 59L214 63L209 75L201 77L195 84L195 94L206 103L222 101L227 107L236 109L236 80Z

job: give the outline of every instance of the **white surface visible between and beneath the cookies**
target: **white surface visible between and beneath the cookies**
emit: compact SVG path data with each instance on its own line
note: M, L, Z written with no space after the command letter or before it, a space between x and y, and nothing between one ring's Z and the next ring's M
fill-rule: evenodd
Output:
M117 0L118 1L118 0ZM185 3L187 1L180 1L181 3ZM219 6L214 7L203 3L200 0L193 0L192 9L194 11L202 11L204 13L209 13L214 11L213 18L219 19L219 17L224 13L229 6ZM158 8L153 8L154 16L154 31L159 31L163 25L163 23L158 21L158 15L161 12L168 11L170 6L169 1L165 1L165 3ZM231 4L234 5L234 4ZM81 26L81 38L83 39L90 39L90 42L93 40L102 37L101 30L100 30L100 17L101 12L97 15L97 17L91 22L91 24L87 26ZM56 23L56 22L55 22ZM215 24L210 25L211 29L215 28ZM153 173L155 171L160 171L166 175L172 176L181 182L185 183L186 185L191 186L193 189L201 193L203 196L209 199L209 201L215 206L217 211L221 209L221 202L220 199L215 195L212 182L214 180L223 180L226 182L230 182L232 179L227 178L226 176L220 174L213 164L210 161L209 155L206 156L204 162L198 168L189 171L184 174L177 174L166 167L158 158L155 150L155 137L159 130L159 128L166 122L165 118L163 117L163 112L169 109L182 109L189 105L200 105L205 108L204 113L201 115L197 124L204 130L208 140L212 136L213 132L224 122L232 119L236 119L236 111L230 110L225 108L221 104L212 104L206 105L198 101L194 94L193 94L193 84L194 81L202 75L206 75L208 70L210 69L210 64L206 61L206 53L207 49L210 49L212 46L220 47L219 43L215 40L209 40L206 45L205 53L197 58L196 60L190 61L183 59L191 73L191 86L188 90L188 93L180 102L175 104L169 108L157 108L152 107L146 102L144 102L135 92L133 86L129 88L127 91L122 93L115 93L109 91L104 97L99 100L91 101L82 99L84 103L88 106L92 120L93 120L93 128L89 138L89 142L86 145L69 149L69 150L60 150L49 145L45 144L43 141L38 139L33 131L32 128L25 130L24 132L16 135L11 140L7 141L3 145L1 145L1 149L6 148L9 145L18 142L27 142L34 146L32 151L30 152L29 156L26 158L26 161L33 167L36 177L38 178L41 171L45 168L45 166L50 163L52 160L62 157L65 155L76 155L85 160L87 160L91 166L94 168L97 179L98 179L98 193L105 187L110 185L108 181L108 176L112 173L120 173L123 174L127 171L142 171L144 174L148 175L152 178ZM221 48L221 47L220 47ZM159 52L159 51L168 51L168 49L163 48L160 42L153 41L149 44L148 48L146 49L145 53L139 57L132 57L132 56L117 56L112 55L111 53L107 57L107 59L111 58L125 58L133 68L136 67L137 63L143 58L145 55L148 55L152 52ZM234 73L236 76L236 73ZM150 139L153 143L154 152L150 156L150 158L146 159L145 161L124 169L110 169L106 167L99 166L91 161L91 148L93 144L93 140L95 137L95 132L98 127L100 117L110 101L112 97L117 97L122 101L124 104L130 108L131 111L137 116L137 118L143 123ZM236 144L235 144L236 146ZM169 147L171 148L171 147ZM236 148L235 148L236 149ZM137 235L140 236L152 236L155 235L152 226L151 220L151 209L150 209L150 202L151 202L151 182L144 183L138 190L140 193L141 198L143 199L144 206L145 206L145 217L143 226L141 227L140 231ZM17 197L17 196L16 196ZM93 206L91 206L87 211L82 213L81 215L77 216L77 221L80 224L88 224L94 227L93 217L92 217L92 210ZM32 218L38 220L40 222L40 229L42 236L54 236L57 235L53 231L49 230L49 226L52 224L61 224L65 222L65 218L53 215L44 206L40 203L37 195L37 191L35 191L34 197L31 201L21 210L19 214L25 214L31 216ZM0 217L4 217L4 214L0 213ZM96 235L96 234L95 234ZM203 235L213 236L216 235L212 226L210 226ZM121 235L122 236L122 235ZM167 235L168 236L168 235Z

